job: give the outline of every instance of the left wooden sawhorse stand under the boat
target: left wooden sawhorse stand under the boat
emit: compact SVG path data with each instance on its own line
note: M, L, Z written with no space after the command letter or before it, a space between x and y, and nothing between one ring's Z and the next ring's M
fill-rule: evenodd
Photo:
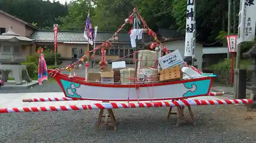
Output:
M109 102L105 101L105 103L109 103ZM112 109L106 109L106 110L108 112L105 115L103 115L104 109L100 109L96 129L99 129L99 127L113 126L114 130L116 131L117 121L115 119L114 112Z

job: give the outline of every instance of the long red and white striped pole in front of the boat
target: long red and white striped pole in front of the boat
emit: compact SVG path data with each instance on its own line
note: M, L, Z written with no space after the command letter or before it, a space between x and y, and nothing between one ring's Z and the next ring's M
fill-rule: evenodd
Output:
M112 109L112 108L143 108L143 107L168 107L168 106L193 106L193 105L221 105L221 104L250 104L251 99L232 100L196 100L186 99L169 102L147 102L147 103L94 103L91 105L67 105L49 107L20 107L0 108L0 113L10 112L39 112L39 111L67 111L67 110L88 110L88 109Z

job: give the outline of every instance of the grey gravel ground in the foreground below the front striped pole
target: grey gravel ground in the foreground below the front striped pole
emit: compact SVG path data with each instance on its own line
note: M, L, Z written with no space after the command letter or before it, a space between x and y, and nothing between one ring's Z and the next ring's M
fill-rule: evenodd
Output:
M94 130L98 110L0 115L0 142L255 142L256 113L244 106L193 107L196 125L175 127L167 108L114 110L120 123ZM185 112L186 113L186 112ZM187 114L186 114L187 115Z

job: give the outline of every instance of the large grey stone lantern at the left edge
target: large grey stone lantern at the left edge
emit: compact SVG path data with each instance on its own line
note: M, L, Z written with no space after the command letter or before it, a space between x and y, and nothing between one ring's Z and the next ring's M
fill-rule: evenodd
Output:
M2 79L6 82L9 73L12 72L15 84L22 84L23 79L32 81L28 75L25 65L20 62L26 61L26 52L23 45L34 43L33 39L20 37L9 26L9 31L0 35L0 72ZM25 47L26 48L26 47Z

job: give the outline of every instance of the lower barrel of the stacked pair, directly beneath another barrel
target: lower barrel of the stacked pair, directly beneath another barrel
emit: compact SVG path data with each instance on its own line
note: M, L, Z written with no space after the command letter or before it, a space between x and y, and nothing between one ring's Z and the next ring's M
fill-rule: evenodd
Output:
M157 68L138 68L137 76L139 82L158 81L159 74Z

